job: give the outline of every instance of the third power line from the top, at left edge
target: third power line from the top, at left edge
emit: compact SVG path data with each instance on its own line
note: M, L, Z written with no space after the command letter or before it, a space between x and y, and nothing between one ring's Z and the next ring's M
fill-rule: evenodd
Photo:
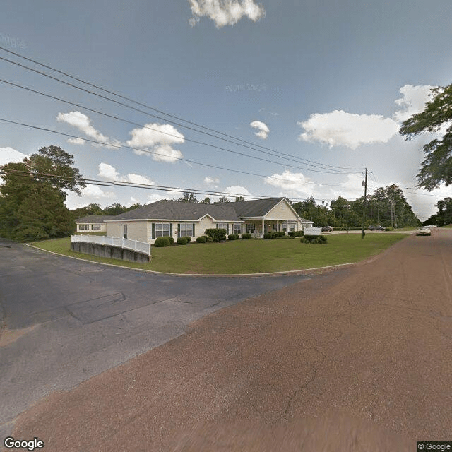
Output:
M0 59L1 59L1 57L0 57ZM75 107L79 107L79 108L82 108L82 109L86 109L86 110L88 110L89 112L93 112L93 113L96 113L96 114L101 114L102 116L109 117L109 118L112 118L112 119L117 119L118 121L125 122L125 123L127 123L127 124L132 124L132 125L135 125L135 126L140 126L140 127L145 128L145 129L150 129L150 130L152 130L152 131L156 131L156 132L159 132L159 133L163 133L164 135L167 135L167 136L172 136L172 137L174 137L174 138L179 138L179 139L181 139L180 136L174 135L174 133L169 133L169 132L160 131L160 130L158 130L158 129L153 129L152 127L146 126L146 125L144 125L144 124L139 124L139 123L137 123L137 122L129 121L128 119L124 119L124 118L121 118L121 117L117 117L117 116L114 116L114 115L112 115L112 114L108 114L108 113L105 113L105 112L100 112L99 110L91 109L91 108L89 108L89 107L85 107L84 105L76 104L75 102L70 102L69 100L61 99L60 97L56 97L56 96L53 96L53 95L49 95L49 94L47 94L47 93L42 93L42 91L33 90L32 88L27 88L26 86L18 85L17 83L13 83L13 82L11 82L11 81L6 81L6 80L4 80L3 78L0 78L0 82L6 83L6 84L8 84L8 85L15 86L16 88L20 88L20 89L23 89L23 90L30 91L31 93L39 94L39 95L42 95L42 96L44 96L44 97L49 97L49 98L51 98L51 99L58 100L59 102L64 102L64 103L66 103L66 104L73 105L73 106L75 106ZM81 139L86 140L86 138L81 138ZM185 137L184 137L183 139L186 140L186 141L190 141L191 143L196 143L196 144L200 144L200 145L205 145L205 146L208 146L208 147L210 147L210 148L215 148L215 149L218 149L218 150L224 150L224 151L226 151L226 152L228 152L228 153L233 153L233 154L237 154L237 155L242 155L242 156L244 156L244 157L253 158L253 159L255 159L255 160L262 160L263 162L270 162L270 163L274 163L275 165L281 165L281 166L284 166L284 167L292 167L292 168L295 168L295 169L301 169L302 171L320 172L320 173L325 173L325 174L349 174L349 173L350 173L350 172L345 172L345 171L334 171L334 172L333 172L333 171L321 171L321 170L319 170L319 169L310 169L310 168L305 168L305 167L297 167L297 166L295 166L295 165L289 165L288 163L275 162L275 160L268 160L268 159L263 158L263 157L256 157L256 156L254 156L254 155L248 155L248 154L245 154L245 153L240 153L240 152L237 151L237 150L231 150L231 149L227 149L227 148L222 148L222 147L217 146L217 145L213 145L213 144L209 144L209 143L203 143L202 141L196 141L196 140L193 140L193 139L191 139L191 138L185 138ZM89 141L89 140L87 140L87 141ZM109 145L109 144L107 144L107 145ZM304 164L304 165L307 165L307 164ZM310 165L310 166L313 166L313 165Z

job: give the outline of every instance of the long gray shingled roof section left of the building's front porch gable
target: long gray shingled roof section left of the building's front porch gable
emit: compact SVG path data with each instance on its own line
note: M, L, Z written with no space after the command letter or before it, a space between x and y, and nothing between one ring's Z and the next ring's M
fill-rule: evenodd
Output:
M217 221L242 222L232 204L234 203L201 204L162 200L121 213L111 220L199 220L208 214Z

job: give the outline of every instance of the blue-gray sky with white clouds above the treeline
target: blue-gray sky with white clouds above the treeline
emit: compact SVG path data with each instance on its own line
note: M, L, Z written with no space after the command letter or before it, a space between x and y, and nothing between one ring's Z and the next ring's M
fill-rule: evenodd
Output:
M0 122L0 164L59 145L91 179L330 201L362 196L361 172L367 167L370 191L387 184L414 187L422 145L432 136L406 142L398 127L422 110L431 87L451 83L450 42L450 0L4 0L1 47L273 155L0 60L0 78L6 81L139 124L0 82L0 117L105 143L68 142ZM0 57L57 76L3 50ZM292 160L283 158L287 155ZM300 159L322 165L307 166ZM407 189L405 196L424 220L452 190ZM70 194L66 204L130 205L177 197L88 186L81 198Z

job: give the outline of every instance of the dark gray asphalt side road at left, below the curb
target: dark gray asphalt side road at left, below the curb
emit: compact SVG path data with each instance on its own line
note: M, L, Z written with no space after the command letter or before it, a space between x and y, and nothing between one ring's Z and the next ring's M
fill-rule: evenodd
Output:
M0 436L48 393L166 343L210 312L306 278L153 275L0 239Z

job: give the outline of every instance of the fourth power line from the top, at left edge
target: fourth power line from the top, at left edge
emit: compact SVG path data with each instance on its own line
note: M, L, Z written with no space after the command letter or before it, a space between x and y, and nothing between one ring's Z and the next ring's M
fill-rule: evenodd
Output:
M167 157L167 155L157 153L156 151L153 151L153 150L148 150L148 149L143 149L143 148L135 148L133 146L124 145L123 143L121 143L120 145L115 145L115 144L112 144L112 143L105 143L105 142L102 142L102 141L92 140L90 138L81 138L80 136L71 135L69 133L59 132L59 131L55 131L55 130L52 130L52 129L46 129L46 128L40 127L40 126L32 126L31 124L24 124L24 123L21 123L21 122L18 122L18 121L11 121L9 119L4 119L4 118L0 118L0 121L4 121L4 122L6 122L8 124L16 124L18 126L28 127L30 129L36 129L36 130L45 131L45 132L49 132L49 133L55 133L57 135L66 136L68 138L74 138L74 139L78 139L78 140L85 140L85 141L89 141L90 143L105 145L105 146L109 146L111 148L118 148L118 149L126 148L126 149L131 149L131 150L138 150L138 151L143 152L143 153L150 153L150 154L153 154L153 155L162 155L164 157ZM189 160L189 159L186 159L186 158L183 158L183 157L173 157L173 158L174 158L174 160L181 160L182 162L189 162L189 163L193 163L194 165L201 165L201 166L204 166L204 167L210 167L210 168L215 168L215 169L222 169L222 170L225 170L225 171L237 172L239 174L247 174L249 176L263 177L265 179L275 179L275 180L282 181L282 182L291 182L291 183L294 182L291 179L283 179L283 178L280 178L280 177L267 176L265 174L257 174L257 173L253 173L253 172L242 171L240 169L232 169L232 168L219 167L219 166L216 166L216 165L209 165L208 163L196 162L195 160ZM314 185L323 185L323 186L343 186L341 184L321 184L319 182L304 182L304 184L314 184Z

